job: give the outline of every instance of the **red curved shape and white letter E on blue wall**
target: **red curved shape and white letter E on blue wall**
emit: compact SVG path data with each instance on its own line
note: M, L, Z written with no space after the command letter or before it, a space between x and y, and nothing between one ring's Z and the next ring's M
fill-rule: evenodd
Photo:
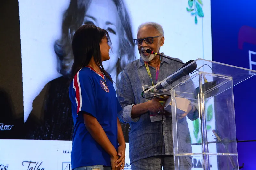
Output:
M243 44L250 43L256 45L256 28L250 26L242 26L238 32L238 48L243 50ZM256 50L255 50L256 51ZM256 65L256 52L248 51L249 54L249 69L252 70L252 65ZM249 74L253 74L249 71Z

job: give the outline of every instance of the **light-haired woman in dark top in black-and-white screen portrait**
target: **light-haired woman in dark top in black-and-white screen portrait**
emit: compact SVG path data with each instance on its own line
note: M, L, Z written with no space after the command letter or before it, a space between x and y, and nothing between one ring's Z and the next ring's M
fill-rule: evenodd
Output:
M92 24L108 31L113 48L110 59L103 62L103 66L115 82L113 86L116 90L124 67L136 60L132 25L124 0L66 1L70 3L63 13L62 34L54 43L57 70L62 76L48 82L33 101L33 110L25 123L24 139L72 140L74 126L68 87L74 60L72 37L80 26ZM128 142L130 126L124 123L121 126L124 139Z

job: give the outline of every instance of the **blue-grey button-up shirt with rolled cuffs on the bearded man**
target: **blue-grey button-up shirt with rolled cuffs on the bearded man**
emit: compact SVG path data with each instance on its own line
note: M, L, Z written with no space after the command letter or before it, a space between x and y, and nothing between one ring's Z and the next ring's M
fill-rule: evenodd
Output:
M164 55L164 53L161 53ZM173 58L179 60L177 58ZM157 82L162 81L173 72L178 70L182 64L162 57L159 78ZM156 69L149 66L152 80L155 83ZM177 83L174 83L177 84ZM129 132L129 152L130 163L138 161L140 159L148 158L151 156L159 155L173 155L173 138L172 138L172 118L166 116L164 121L150 121L150 114L145 113L140 117L132 119L131 110L135 104L147 102L150 99L145 99L141 96L143 91L142 85L152 86L151 79L148 76L144 61L142 58L129 63L125 68L119 82L117 89L117 98L122 106L122 111L118 113L120 121L123 123L129 123L131 131ZM170 89L167 87L166 89ZM152 94L144 93L144 96L149 97ZM198 106L196 106L198 109ZM198 112L188 115L191 120L198 118ZM184 153L191 153L192 147L189 136L188 124L186 117L180 122L182 129L179 128L179 140L188 141L181 142ZM163 130L163 138L162 138ZM161 139L162 138L162 139ZM163 141L163 142L162 142ZM179 146L180 147L180 146ZM180 149L180 148L179 148ZM162 152L161 152L162 151ZM191 165L191 157L180 160L180 164L185 166Z

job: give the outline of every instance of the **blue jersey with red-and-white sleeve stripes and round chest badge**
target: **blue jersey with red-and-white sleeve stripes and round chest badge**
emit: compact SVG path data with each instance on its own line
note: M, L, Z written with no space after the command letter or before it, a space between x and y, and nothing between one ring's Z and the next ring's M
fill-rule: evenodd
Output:
M107 78L105 78L107 79ZM92 138L84 125L84 112L95 117L112 145L118 148L117 113L122 110L110 80L105 80L92 69L82 68L69 87L74 121L71 151L72 169L81 166L111 166L110 155ZM84 112L83 112L84 111Z

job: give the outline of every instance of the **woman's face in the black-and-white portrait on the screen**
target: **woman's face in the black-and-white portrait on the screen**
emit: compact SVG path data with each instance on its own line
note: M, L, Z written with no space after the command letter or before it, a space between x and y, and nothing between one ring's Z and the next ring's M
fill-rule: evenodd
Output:
M84 24L88 23L105 29L109 33L112 52L109 53L110 59L102 64L104 69L111 73L120 56L121 22L114 2L112 0L92 0L84 17Z

